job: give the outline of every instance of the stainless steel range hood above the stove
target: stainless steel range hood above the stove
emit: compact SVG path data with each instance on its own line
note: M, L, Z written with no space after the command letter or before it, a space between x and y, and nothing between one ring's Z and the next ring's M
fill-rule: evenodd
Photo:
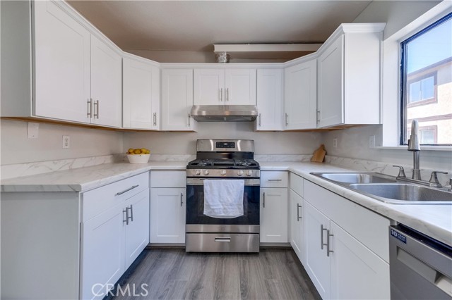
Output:
M191 116L198 122L251 122L258 115L255 105L195 105Z

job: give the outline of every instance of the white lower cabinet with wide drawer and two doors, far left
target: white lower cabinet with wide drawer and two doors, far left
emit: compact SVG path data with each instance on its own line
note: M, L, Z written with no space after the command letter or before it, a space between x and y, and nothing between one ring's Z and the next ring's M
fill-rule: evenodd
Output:
M81 299L102 299L149 242L148 173L83 193Z

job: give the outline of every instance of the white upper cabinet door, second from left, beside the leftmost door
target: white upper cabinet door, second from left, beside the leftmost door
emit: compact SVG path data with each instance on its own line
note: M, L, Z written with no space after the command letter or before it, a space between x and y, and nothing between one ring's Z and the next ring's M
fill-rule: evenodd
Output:
M121 127L122 69L121 56L91 35L91 122Z

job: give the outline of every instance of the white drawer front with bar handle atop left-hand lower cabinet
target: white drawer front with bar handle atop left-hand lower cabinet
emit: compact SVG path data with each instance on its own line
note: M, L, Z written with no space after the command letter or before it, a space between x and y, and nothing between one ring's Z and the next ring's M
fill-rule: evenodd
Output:
M82 222L148 188L149 173L145 172L83 193Z

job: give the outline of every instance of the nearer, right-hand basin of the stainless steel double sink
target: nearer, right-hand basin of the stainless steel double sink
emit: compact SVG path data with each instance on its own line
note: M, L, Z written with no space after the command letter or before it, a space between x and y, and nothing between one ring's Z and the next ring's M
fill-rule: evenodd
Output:
M452 204L452 193L419 185L389 183L389 184L352 184L350 188L360 192L391 200L408 202L410 204L422 202L423 204L435 204L449 202ZM391 199L391 200L387 200ZM381 200L381 199L379 199Z

